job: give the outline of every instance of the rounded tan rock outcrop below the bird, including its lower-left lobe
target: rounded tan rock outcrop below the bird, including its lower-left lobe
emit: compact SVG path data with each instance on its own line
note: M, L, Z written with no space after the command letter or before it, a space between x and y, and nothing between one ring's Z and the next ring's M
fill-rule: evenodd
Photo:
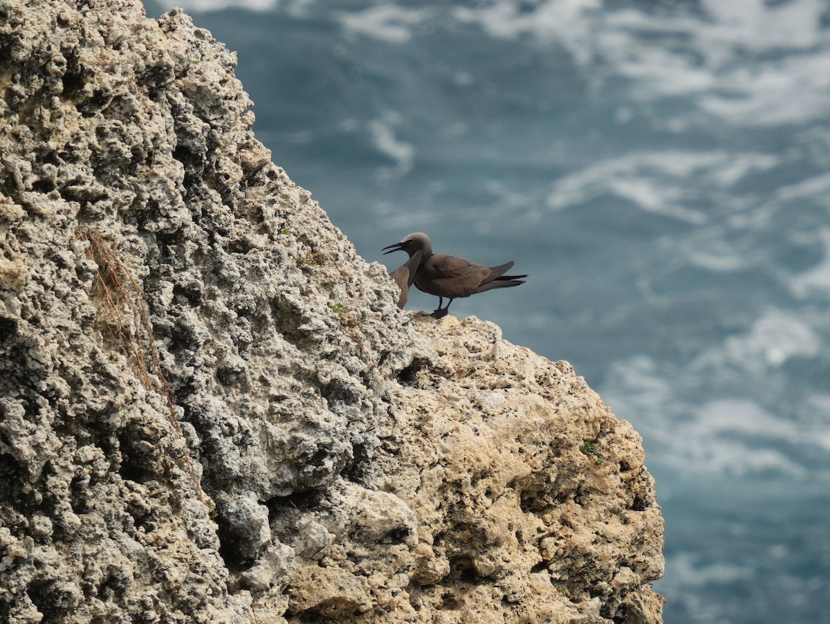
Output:
M365 477L385 494L344 484L276 529L301 562L288 621L661 622L662 516L632 427L494 324L413 322L436 353L388 387Z

